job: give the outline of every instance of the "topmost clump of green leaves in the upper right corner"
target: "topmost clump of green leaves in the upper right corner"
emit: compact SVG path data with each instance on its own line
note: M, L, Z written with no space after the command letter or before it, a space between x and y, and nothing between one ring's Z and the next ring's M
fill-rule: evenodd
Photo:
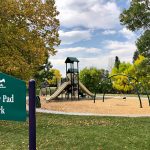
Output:
M120 15L120 22L129 30L147 30L150 28L149 0L132 0L129 9Z

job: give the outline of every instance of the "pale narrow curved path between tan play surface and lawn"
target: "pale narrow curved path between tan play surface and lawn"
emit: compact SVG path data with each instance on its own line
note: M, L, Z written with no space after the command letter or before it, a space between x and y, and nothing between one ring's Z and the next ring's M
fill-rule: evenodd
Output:
M54 110L47 110L47 109L41 109L37 108L36 112L41 113L49 113L49 114L63 114L63 115L77 115L77 116L110 116L110 117L150 117L150 114L94 114L94 113L75 113L75 112L63 112L63 111L54 111Z

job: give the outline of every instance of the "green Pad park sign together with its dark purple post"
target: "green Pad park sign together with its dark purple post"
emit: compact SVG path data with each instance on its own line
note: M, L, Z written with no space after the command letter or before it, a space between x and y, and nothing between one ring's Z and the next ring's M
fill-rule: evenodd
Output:
M35 80L29 81L29 150L36 150ZM0 120L26 121L26 83L0 72Z

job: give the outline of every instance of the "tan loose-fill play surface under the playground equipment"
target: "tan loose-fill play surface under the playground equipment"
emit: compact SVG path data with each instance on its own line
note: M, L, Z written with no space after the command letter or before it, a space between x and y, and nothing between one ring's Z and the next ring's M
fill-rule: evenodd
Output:
M93 100L53 100L46 102L41 97L41 105L43 109L78 112L78 113L94 113L94 114L117 114L117 115L150 115L150 107L147 98L142 98L143 108L137 97L127 97L126 100L119 97L107 97L105 102L99 98L96 103Z

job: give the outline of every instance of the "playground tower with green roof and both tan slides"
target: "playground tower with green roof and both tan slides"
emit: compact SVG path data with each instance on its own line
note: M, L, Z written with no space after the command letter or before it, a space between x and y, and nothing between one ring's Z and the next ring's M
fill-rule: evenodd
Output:
M65 98L78 99L85 96L83 92L93 97L91 93L80 81L79 81L79 60L76 57L67 57L66 63L66 81L62 83L58 89L46 100L50 101L56 99L59 95L65 95ZM75 66L76 65L76 66Z

